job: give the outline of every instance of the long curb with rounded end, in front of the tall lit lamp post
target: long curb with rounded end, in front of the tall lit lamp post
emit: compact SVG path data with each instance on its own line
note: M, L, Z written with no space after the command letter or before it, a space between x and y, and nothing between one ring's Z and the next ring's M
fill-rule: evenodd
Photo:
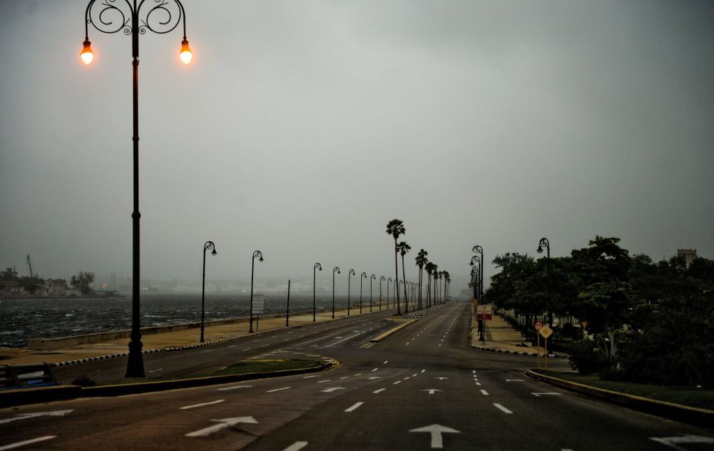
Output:
M0 392L0 408L15 405L36 404L38 402L52 402L59 400L72 400L78 397L103 397L136 395L139 393L160 392L177 390L179 388L203 387L206 385L220 385L230 382L243 382L246 380L267 379L271 377L293 376L309 373L318 373L339 365L334 359L327 359L321 365L300 370L273 371L271 373L245 373L225 376L194 377L182 380L162 380L157 382L139 382L135 384L101 385L99 387L79 387L78 385L59 385L54 387L20 388L17 390L4 390Z

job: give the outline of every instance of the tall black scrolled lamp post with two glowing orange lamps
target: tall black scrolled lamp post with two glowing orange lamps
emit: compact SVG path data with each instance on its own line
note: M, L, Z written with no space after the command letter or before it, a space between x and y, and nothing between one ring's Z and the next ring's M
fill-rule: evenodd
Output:
M141 315L139 313L139 35L152 31L166 34L183 24L183 41L179 58L183 64L191 63L193 54L186 39L186 12L179 0L162 1L96 1L90 0L84 12L84 43L79 56L84 64L94 61L94 51L89 41L89 25L97 31L114 34L121 31L131 36L131 81L133 91L132 118L134 133L134 212L132 218L132 287L131 287L131 341L126 363L126 377L146 377L141 355Z

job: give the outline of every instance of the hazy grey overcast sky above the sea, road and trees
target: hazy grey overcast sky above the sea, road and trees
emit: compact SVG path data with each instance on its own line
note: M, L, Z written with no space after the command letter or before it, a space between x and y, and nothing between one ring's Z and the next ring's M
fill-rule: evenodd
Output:
M131 273L131 37L90 27L84 66L86 4L0 1L0 266L21 275L26 254ZM714 258L711 1L183 6L190 66L180 26L140 38L142 278L198 281L206 240L208 278L249 277L256 249L258 278L393 277L392 218L408 278L424 248L458 290L477 244L487 277L542 236Z

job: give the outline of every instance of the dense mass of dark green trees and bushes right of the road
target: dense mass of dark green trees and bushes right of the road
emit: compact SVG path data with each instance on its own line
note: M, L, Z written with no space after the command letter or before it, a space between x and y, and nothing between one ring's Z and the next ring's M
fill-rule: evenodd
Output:
M486 300L516 310L531 325L548 308L560 318L587 320L588 340L570 325L571 363L583 373L640 382L714 386L714 260L685 265L630 256L619 238L596 236L570 256L506 253L493 264ZM548 285L550 284L550 302ZM570 330L568 330L570 329ZM570 334L568 334L570 332Z

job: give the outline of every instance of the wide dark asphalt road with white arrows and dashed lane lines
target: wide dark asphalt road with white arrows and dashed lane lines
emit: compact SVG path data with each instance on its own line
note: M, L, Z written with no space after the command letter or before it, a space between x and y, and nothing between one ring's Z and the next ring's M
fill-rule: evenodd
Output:
M468 348L468 304L372 345L393 326L380 315L248 338L266 340L250 343L261 353L341 362L323 373L0 410L0 451L714 450L710 431L533 382L533 358ZM253 355L245 341L157 354L147 370L184 360L205 373Z

